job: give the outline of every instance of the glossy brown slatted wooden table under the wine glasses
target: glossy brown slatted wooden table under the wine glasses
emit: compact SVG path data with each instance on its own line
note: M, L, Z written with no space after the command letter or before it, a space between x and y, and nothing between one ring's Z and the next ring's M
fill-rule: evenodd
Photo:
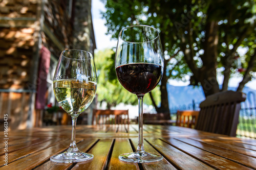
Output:
M94 155L79 163L55 163L65 151L71 126L8 132L8 166L0 169L256 169L256 140L240 139L175 126L144 125L147 152L163 155L154 163L126 163L118 156L137 147L137 125L77 126L77 146ZM0 143L1 158L5 143ZM1 159L3 160L3 159Z

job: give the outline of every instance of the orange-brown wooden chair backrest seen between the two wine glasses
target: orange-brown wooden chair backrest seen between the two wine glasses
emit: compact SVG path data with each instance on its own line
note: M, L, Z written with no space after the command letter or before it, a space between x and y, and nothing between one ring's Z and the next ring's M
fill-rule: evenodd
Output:
M129 125L129 110L93 110L97 124L128 124Z

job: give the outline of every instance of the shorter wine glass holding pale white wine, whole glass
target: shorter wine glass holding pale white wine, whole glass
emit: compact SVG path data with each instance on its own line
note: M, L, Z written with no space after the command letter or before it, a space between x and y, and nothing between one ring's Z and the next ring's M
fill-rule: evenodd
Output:
M60 54L53 79L53 89L59 105L72 117L72 139L66 152L51 157L59 163L82 162L93 159L76 146L76 120L92 103L97 88L97 76L91 53L65 50Z

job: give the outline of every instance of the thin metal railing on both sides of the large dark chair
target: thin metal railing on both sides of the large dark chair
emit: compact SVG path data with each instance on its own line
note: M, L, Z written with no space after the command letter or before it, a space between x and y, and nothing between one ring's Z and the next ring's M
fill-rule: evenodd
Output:
M188 105L181 105L170 108L172 117L176 115L177 110L200 110L200 103L192 102ZM239 124L237 130L238 137L247 137L256 139L256 92L250 91L247 93L245 102L241 103L239 115Z

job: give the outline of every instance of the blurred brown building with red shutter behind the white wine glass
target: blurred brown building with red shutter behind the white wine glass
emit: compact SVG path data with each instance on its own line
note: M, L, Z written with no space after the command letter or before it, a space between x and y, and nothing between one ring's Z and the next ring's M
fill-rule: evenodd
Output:
M0 1L0 119L38 126L61 51L96 48L91 0Z

